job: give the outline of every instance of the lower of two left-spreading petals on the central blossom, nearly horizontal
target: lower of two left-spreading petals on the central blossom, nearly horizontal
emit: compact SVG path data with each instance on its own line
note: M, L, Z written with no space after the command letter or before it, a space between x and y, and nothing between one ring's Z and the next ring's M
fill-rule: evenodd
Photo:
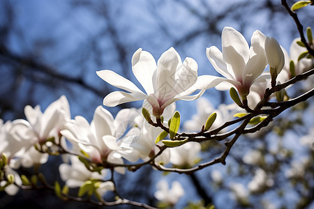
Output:
M124 91L114 91L108 94L103 99L103 104L108 107L114 107L117 106L118 104L123 104L126 102L145 100L148 97L149 97L148 95L142 92L126 93Z

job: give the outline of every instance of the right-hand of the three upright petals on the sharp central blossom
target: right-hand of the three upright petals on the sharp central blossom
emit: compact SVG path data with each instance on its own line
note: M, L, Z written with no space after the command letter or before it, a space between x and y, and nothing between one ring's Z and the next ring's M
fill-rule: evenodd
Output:
M181 66L177 69L175 79L176 85L173 92L179 94L190 88L197 81L197 63L194 59L187 57Z

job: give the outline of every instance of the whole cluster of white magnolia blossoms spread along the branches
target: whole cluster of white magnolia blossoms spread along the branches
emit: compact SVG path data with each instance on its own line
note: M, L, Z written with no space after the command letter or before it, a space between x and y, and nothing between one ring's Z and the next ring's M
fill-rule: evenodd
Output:
M293 47L297 46L292 45ZM103 104L114 107L124 102L145 100L143 107L155 116L151 123L163 118L161 123L166 127L176 108L174 102L196 100L206 89L212 87L226 90L233 86L237 88L242 100L248 100L249 106L254 107L262 99L266 88L276 85L276 82L287 81L295 74L302 73L302 69L309 70L313 67L313 59L296 61L295 54L292 54L296 51L290 49L290 57L287 56L287 52L274 38L264 36L260 31L253 33L249 47L241 33L225 27L222 33L222 52L217 47L209 47L206 51L210 63L223 77L197 76L196 61L188 57L182 62L174 48L164 52L157 63L149 52L142 49L133 54L133 74L145 93L111 70L100 70L97 75L112 86L124 90L110 93L104 98ZM290 69L289 61L295 63L294 70ZM269 72L264 71L267 65ZM184 130L200 131L208 116L216 112L216 122L211 127L214 129L241 111L235 104L220 104L218 109L214 109L205 99L200 99L197 105L197 115L193 116L192 121L186 122ZM197 162L195 159L201 150L199 143L188 142L165 149L160 154L160 146L163 144L162 141L156 144L156 138L163 130L151 125L140 109L122 109L114 118L109 111L99 106L89 123L82 116L72 119L68 100L61 96L44 112L38 106L27 106L24 113L27 120L1 121L0 124L1 172L4 176L14 178L15 182L12 184L8 179L1 181L1 187L8 194L15 194L18 186L22 185L15 169L44 164L49 154L62 153L65 156L59 172L68 187L82 187L89 180L96 180L96 192L103 195L108 190L114 190L114 183L107 175L110 172L108 168L124 174L126 161L136 163L151 159L160 165L172 164L174 167L189 168ZM157 154L158 157L155 157ZM264 173L257 171L256 175L264 176ZM260 182L253 181L250 187L256 190L259 184ZM172 198L176 196L175 201L167 199L167 194L162 192L167 191L165 183L160 183L158 187L160 190L156 192L156 198L169 201L171 205L183 195L178 183L174 183L174 189L170 191L179 191L172 195ZM243 196L245 195L238 198Z

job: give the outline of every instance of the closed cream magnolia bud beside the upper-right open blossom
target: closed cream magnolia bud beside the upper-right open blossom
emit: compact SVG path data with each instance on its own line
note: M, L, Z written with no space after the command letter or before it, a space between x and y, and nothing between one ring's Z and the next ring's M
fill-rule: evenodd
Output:
M285 55L277 40L268 36L265 40L265 52L271 73L271 84L276 85L277 75L283 70L283 65L285 65Z

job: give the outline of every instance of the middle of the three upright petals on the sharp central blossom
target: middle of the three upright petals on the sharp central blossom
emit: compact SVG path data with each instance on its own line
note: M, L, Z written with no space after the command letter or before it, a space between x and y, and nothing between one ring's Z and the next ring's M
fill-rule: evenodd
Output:
M158 100L163 100L172 94L178 65L181 65L181 59L173 47L160 56L156 71L156 86L154 86Z

